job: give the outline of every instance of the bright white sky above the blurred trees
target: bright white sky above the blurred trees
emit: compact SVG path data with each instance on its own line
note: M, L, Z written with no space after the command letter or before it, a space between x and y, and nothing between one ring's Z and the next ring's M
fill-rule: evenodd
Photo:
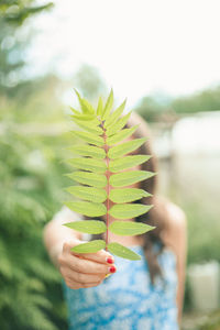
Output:
M186 95L220 84L219 0L55 0L35 18L28 53L38 74L99 70L120 100Z

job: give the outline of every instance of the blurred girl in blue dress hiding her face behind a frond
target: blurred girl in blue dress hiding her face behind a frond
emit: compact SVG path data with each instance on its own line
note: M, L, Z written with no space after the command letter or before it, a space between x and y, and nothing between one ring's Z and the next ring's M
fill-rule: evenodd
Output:
M135 124L140 125L134 139L150 136L144 120L133 112L127 128ZM152 155L150 140L131 154L134 153ZM155 157L132 169L156 172ZM62 226L86 219L66 207L45 227L45 246L63 276L69 330L178 329L184 298L185 215L179 207L157 195L156 176L128 187L151 193L153 196L133 202L152 204L154 207L147 213L127 221L145 222L156 229L135 237L109 232L109 242L129 246L142 255L141 261L112 256L105 250L80 255L70 252L81 241L101 235L91 237ZM105 219L106 216L99 220ZM111 275L106 277L107 274Z

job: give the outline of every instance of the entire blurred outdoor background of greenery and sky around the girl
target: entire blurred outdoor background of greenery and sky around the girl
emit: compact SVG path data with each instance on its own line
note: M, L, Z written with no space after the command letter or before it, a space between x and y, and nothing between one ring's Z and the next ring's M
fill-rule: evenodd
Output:
M0 1L0 328L67 329L42 228L64 200L73 87L151 124L188 221L184 330L220 329L219 0Z

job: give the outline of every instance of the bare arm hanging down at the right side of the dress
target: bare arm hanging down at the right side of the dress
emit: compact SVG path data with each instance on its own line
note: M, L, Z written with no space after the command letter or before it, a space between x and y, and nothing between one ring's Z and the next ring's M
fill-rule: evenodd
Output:
M166 243L172 248L176 254L177 260L177 307L178 321L182 320L184 292L185 292L185 268L186 268L186 253L187 253L187 227L186 216L180 208L174 204L168 204L168 211L170 221L167 226Z

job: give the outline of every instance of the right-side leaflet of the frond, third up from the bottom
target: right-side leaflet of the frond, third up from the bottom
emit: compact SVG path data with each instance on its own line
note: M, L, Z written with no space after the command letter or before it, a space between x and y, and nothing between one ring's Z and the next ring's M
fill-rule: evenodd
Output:
M130 219L147 212L152 207L141 204L117 204L111 207L109 213L116 219Z

